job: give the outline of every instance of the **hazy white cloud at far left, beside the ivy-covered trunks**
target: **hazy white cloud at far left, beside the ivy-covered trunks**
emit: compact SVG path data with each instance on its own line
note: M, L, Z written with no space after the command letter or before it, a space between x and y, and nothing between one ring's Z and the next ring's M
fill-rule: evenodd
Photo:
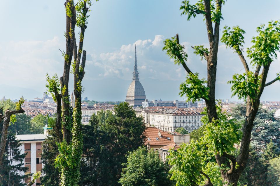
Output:
M1 50L0 78L9 80L14 86L34 88L45 85L46 73L53 75L63 67L64 61L58 50L63 49L63 42L59 37L46 41L11 41L1 45L6 47Z

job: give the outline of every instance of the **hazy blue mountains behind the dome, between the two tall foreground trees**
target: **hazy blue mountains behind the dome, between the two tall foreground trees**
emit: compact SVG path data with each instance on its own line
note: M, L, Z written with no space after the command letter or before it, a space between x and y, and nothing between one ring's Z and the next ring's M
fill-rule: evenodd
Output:
M97 101L124 101L127 89L132 80L120 78L104 78L95 81L83 81L83 97ZM160 81L155 79L140 79L146 98L162 100L183 100L179 96L180 81Z

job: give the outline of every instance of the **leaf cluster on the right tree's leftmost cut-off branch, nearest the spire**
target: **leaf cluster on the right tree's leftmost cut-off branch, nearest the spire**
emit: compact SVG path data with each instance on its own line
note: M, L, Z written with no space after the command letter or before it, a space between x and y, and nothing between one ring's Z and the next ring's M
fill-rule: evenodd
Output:
M164 47L163 51L166 51L166 54L170 59L174 59L174 64L181 65L188 59L188 54L184 51L185 46L177 44L176 36L166 39L163 42Z

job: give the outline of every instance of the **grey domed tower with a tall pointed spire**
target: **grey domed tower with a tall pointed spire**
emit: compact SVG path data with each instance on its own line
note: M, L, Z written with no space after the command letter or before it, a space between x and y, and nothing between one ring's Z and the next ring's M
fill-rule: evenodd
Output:
M137 58L136 58L136 44L135 44L135 58L134 58L134 72L132 82L130 83L125 102L130 106L138 107L142 106L142 102L145 101L146 94L143 86L139 81L139 73L137 71Z

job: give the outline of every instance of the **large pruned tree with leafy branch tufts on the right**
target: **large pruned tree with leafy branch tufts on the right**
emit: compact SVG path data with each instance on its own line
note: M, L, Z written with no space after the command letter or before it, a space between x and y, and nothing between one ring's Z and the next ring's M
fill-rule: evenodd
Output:
M193 73L186 65L188 54L183 50L184 46L179 43L178 34L164 41L163 50L166 51L170 58L174 59L175 64L182 64L188 73L186 81L180 85L180 95L186 96L188 100L193 102L200 99L205 100L209 120L206 126L206 141L209 143L209 148L214 151L216 162L221 168L220 173L225 182L224 184L236 186L248 160L253 122L260 105L262 92L266 86L280 80L280 74L276 74L274 80L267 82L270 64L277 57L276 52L279 51L280 23L278 21L269 22L267 26L261 25L257 28L258 36L253 37L253 45L247 49L253 70L249 69L243 55L243 35L245 31L238 26L232 29L228 26L224 28L221 41L237 53L245 69L244 74L235 74L233 80L229 81L232 84L233 95L237 95L239 99L246 100L246 117L243 133L240 136L238 132L233 131L233 129L238 130L234 126L234 121L219 118L215 101L219 30L220 21L223 19L221 8L224 3L225 1L223 0L202 0L192 5L185 0L180 8L183 10L181 15L187 15L188 20L198 14L204 16L209 49L202 45L195 46L193 49L194 53L201 57L201 60L206 60L207 80L204 78L199 79L198 73ZM262 71L260 72L261 69ZM234 155L232 152L234 150L233 145L239 142L240 151L237 155ZM189 171L193 170L190 169ZM203 175L203 173L201 174ZM193 178L189 177L188 179ZM195 184L197 183L193 183L193 185ZM211 179L205 185L213 185Z

